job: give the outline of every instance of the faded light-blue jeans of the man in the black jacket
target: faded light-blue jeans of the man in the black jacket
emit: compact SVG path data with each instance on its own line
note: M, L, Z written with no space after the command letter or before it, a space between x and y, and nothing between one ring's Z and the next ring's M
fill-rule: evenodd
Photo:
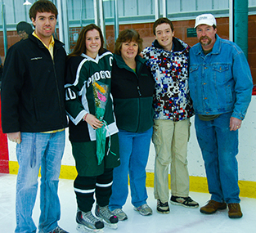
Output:
M61 217L57 195L65 131L55 133L21 132L16 146L19 172L16 184L16 231L36 232L32 212L38 191L41 167L39 232L50 232Z

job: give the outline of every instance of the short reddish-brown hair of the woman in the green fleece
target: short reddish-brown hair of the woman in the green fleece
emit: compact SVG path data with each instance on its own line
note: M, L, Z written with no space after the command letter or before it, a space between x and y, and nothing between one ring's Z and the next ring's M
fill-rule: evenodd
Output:
M121 55L122 43L127 42L135 42L138 44L138 54L142 51L143 39L140 37L140 34L134 29L124 29L124 31L119 33L119 37L115 42L115 54Z

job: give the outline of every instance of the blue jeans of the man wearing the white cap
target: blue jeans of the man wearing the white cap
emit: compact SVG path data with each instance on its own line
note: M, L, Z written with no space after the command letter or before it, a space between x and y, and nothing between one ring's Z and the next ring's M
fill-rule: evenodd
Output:
M202 151L211 199L240 203L238 186L238 131L230 131L231 113L211 121L195 115L196 137Z

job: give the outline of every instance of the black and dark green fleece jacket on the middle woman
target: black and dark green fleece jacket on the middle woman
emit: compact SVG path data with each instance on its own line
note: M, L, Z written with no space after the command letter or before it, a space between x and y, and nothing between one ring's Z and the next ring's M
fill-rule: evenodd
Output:
M136 73L115 55L111 93L117 127L128 132L145 132L153 125L155 81L146 60L136 56Z

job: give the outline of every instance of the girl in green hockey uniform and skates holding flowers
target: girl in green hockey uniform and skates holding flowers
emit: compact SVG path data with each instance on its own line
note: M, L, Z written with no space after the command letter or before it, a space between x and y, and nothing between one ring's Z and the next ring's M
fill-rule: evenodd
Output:
M118 218L108 208L113 168L119 166L118 128L110 96L113 55L103 48L103 36L97 25L87 25L67 58L65 109L70 118L70 142L78 176L74 192L79 231L100 231L104 224L117 228ZM105 114L97 119L93 84L108 87ZM106 150L101 163L97 159L97 128L106 128ZM93 195L97 199L92 214Z

